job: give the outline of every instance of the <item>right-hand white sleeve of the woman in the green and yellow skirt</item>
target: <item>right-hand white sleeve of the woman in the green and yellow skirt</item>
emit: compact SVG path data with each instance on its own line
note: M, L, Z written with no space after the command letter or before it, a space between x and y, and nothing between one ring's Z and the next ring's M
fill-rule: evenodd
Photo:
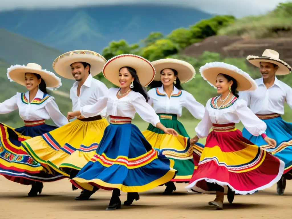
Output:
M199 103L193 95L190 93L183 91L183 95L185 95L186 101L183 103L183 106L190 111L193 117L196 119L203 119L205 113L205 107L203 104Z

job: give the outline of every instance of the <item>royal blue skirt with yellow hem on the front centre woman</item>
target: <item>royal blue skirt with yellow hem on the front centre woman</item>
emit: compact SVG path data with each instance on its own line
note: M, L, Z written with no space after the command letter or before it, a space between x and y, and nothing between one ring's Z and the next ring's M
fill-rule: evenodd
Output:
M83 190L96 186L144 192L174 178L173 164L152 148L137 126L109 124L94 157L71 182Z

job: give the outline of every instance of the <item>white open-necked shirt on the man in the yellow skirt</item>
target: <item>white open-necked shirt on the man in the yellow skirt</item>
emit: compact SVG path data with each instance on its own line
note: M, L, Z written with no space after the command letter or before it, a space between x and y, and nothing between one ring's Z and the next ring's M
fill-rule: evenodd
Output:
M103 84L101 81L92 77L91 74L88 75L84 84L82 84L80 88L79 97L77 96L77 86L78 81L76 81L72 88L70 89L70 99L72 100L72 111L78 111L81 107L85 105L91 105L96 103L98 98L105 96L108 92L107 86ZM97 113L97 116L101 115L102 117L106 117L106 108L101 112Z

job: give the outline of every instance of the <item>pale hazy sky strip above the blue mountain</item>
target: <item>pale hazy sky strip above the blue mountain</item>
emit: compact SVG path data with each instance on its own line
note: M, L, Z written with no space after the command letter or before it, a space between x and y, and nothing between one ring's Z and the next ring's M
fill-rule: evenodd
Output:
M271 11L279 2L287 1L289 0L0 0L0 11L147 3L194 7L209 13L242 17Z

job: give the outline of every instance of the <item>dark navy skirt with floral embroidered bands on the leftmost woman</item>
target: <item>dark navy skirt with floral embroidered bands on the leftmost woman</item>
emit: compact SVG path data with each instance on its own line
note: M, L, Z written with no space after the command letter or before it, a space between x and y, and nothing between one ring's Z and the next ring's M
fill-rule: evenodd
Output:
M25 126L12 128L0 123L0 174L23 185L32 181L52 182L64 178L34 160L21 146L21 141L54 130L55 126L41 121L25 121Z

